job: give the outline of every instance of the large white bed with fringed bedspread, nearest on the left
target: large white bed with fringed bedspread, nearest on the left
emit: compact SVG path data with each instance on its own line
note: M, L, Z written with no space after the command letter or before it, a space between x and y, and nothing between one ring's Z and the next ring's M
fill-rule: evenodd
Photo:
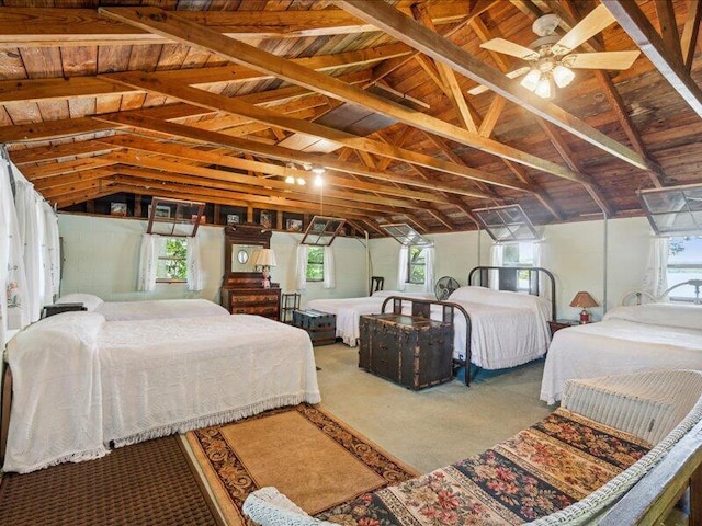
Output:
M16 334L8 362L5 471L320 401L307 333L258 316L106 321L65 312Z

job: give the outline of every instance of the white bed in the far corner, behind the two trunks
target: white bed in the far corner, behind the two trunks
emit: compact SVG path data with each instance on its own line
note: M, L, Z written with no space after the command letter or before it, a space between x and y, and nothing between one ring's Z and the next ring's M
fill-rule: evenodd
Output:
M362 315L378 315L383 301L388 296L403 296L418 299L435 299L432 293L400 293L397 290L377 290L372 296L361 298L313 299L307 301L307 308L328 312L337 317L337 338L351 347L359 344L361 336L359 320Z

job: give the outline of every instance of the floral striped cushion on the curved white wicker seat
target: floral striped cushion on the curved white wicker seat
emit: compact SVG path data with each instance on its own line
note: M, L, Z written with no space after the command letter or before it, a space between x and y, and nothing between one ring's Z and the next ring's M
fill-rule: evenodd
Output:
M354 525L508 525L581 500L649 449L558 409L487 451L367 493L317 518Z

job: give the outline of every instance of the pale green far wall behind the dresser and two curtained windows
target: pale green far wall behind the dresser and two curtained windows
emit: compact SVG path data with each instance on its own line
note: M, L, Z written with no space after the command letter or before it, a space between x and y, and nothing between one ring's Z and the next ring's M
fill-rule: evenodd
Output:
M185 284L157 284L152 293L136 291L139 245L146 221L135 219L59 214L59 235L64 243L61 294L90 293L107 301L206 298L219 301L224 274L224 229L201 226L197 230L203 262L204 288L190 293ZM271 248L278 266L271 268L273 282L283 291L293 291L295 253L302 235L273 232ZM307 285L303 306L318 297L351 297L367 294L365 248L355 239L333 242L337 287L324 289L319 283Z

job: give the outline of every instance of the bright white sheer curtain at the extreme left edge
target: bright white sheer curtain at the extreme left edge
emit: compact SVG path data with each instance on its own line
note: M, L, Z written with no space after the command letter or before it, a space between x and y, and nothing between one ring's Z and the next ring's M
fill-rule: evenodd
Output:
M24 308L26 278L22 253L10 164L0 159L0 284L4 290L0 301L0 345L8 340L9 329L22 329L30 324L29 311Z

